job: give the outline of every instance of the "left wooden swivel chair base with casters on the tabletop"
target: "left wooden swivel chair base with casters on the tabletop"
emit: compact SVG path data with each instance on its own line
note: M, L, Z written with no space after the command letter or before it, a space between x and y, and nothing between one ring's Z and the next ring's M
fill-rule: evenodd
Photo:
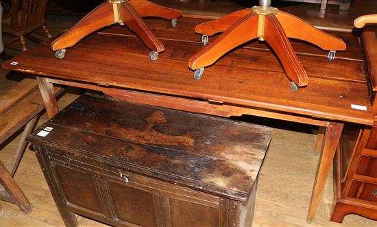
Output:
M177 18L180 16L182 16L180 10L166 8L147 0L109 0L86 14L68 32L54 40L51 43L51 49L56 51L56 58L62 59L66 48L73 47L88 34L102 27L119 23L119 25L126 25L130 28L143 41L145 46L151 49L150 60L157 60L158 53L165 49L164 45L145 25L142 17L169 19L172 20L172 26L175 27Z

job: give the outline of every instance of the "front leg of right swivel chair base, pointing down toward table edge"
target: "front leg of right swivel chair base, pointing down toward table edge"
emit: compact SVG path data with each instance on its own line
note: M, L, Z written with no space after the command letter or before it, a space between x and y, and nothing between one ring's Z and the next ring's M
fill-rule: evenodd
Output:
M267 14L265 21L265 40L275 51L287 77L297 86L308 85L308 75L298 60L293 47L285 35L278 19L273 14Z

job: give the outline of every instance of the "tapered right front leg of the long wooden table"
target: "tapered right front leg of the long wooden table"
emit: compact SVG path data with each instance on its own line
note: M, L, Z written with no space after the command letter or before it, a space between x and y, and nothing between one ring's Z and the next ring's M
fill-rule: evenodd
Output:
M311 223L314 219L315 212L321 195L324 191L324 186L330 172L332 160L334 159L335 152L338 147L341 131L343 130L343 123L330 122L326 129L324 138L324 148L322 150L321 158L319 158L319 165L317 169L317 176L315 178L311 204L309 206L308 218L306 222Z

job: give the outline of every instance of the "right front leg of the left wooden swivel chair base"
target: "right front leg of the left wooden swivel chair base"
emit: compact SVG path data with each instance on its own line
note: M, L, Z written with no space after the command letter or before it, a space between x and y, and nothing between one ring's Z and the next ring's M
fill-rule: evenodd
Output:
M130 3L123 2L119 4L119 17L127 27L132 29L132 32L137 34L149 49L157 52L165 50L162 42L149 30L141 16Z

